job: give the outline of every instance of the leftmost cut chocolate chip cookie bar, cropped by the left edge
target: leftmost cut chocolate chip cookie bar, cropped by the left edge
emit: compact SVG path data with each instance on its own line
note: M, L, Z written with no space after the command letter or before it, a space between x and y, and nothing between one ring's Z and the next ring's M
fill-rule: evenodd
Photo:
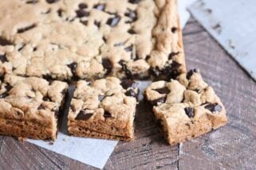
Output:
M1 77L0 84L0 134L55 140L68 84L16 75Z

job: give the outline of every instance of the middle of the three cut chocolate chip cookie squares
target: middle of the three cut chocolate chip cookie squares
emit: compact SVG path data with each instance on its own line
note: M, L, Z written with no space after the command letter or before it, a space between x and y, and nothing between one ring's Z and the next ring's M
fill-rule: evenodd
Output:
M138 92L132 80L108 77L91 83L78 81L69 108L69 133L131 141Z

